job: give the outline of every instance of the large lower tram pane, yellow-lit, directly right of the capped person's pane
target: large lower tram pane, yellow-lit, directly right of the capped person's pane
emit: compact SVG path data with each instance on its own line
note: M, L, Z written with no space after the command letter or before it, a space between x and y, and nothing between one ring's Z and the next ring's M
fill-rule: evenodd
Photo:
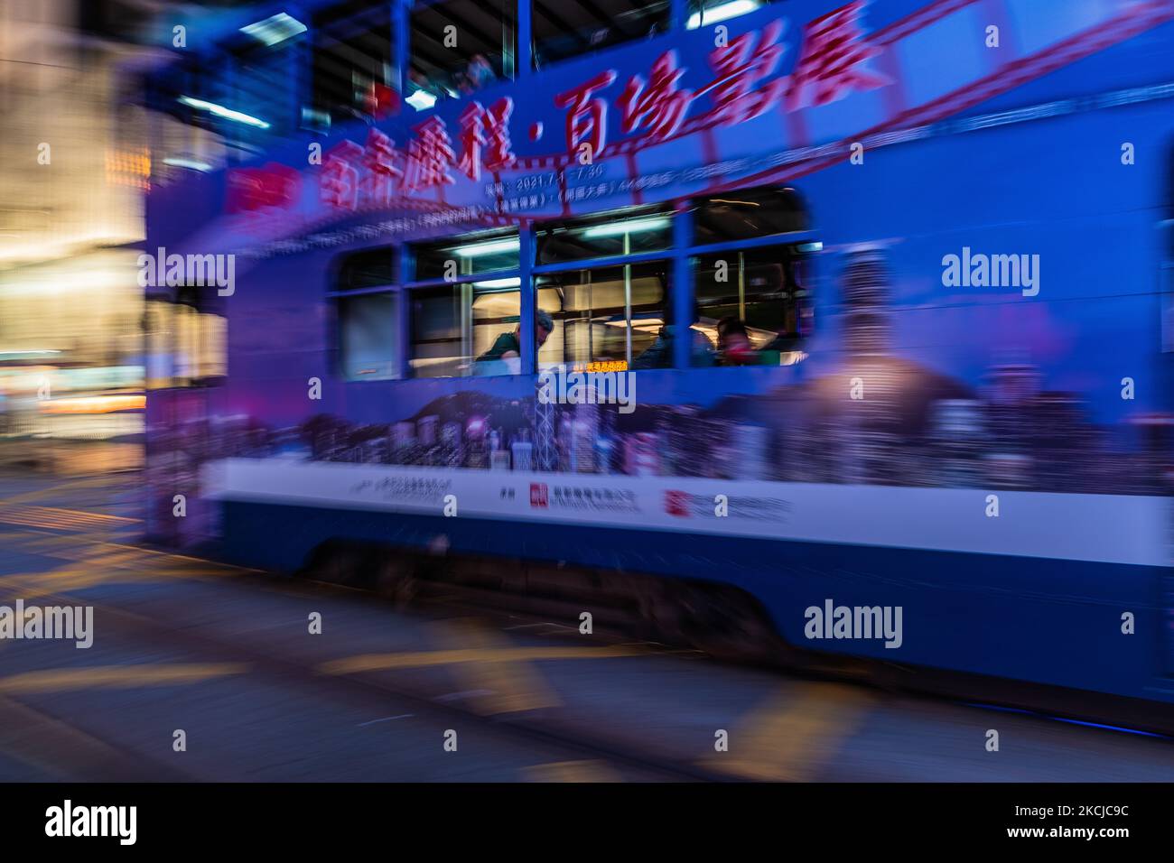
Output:
M667 262L655 261L539 276L538 308L554 323L538 351L539 369L628 363L629 357L634 369L672 365L662 335L668 271Z

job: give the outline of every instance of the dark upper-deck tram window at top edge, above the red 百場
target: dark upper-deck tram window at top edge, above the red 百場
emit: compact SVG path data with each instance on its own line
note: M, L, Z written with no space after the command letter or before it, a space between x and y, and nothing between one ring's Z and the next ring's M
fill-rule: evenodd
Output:
M669 7L669 0L534 0L534 68L666 33Z

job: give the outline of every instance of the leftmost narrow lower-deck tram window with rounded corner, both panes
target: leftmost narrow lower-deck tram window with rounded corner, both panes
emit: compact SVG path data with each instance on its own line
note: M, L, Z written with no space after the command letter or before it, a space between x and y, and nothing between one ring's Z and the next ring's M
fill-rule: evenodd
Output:
M363 249L343 256L333 268L333 290L328 291L326 297L332 311L335 368L343 380L360 383L404 377L403 291L396 278L398 254L394 247ZM377 324L373 335L351 329L352 323L367 321ZM352 352L352 339L365 339L364 348ZM384 350L376 355L370 345L384 345ZM357 355L366 351L375 358L359 362Z

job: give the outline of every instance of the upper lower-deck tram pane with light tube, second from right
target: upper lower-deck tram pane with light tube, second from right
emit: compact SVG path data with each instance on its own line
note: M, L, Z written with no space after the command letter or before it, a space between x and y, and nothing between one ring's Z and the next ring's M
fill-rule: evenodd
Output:
M537 236L540 264L639 255L673 248L673 220L662 210L626 211L542 225Z

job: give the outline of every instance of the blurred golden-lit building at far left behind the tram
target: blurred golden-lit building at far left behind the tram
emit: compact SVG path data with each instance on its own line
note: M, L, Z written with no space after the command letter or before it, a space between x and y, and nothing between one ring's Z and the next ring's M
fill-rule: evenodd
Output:
M0 393L9 433L141 429L150 157L123 70L161 4L0 4ZM101 396L73 410L70 396ZM46 405L55 400L58 404ZM110 410L104 410L109 407Z

